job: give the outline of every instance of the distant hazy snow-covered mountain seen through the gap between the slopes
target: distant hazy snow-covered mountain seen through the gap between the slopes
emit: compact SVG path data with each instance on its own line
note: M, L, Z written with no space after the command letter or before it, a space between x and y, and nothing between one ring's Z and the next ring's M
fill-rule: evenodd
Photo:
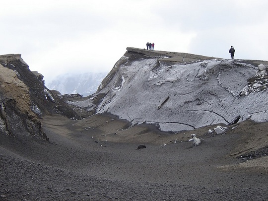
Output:
M98 86L107 74L108 72L67 73L57 76L56 79L46 85L50 90L57 90L61 94L79 93L86 97L97 91Z

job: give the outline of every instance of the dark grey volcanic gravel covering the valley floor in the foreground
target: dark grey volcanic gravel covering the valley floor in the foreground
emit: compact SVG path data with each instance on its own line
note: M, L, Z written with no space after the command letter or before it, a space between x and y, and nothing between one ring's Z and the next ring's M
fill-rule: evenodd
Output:
M222 168L241 163L230 156L239 130L194 148L185 140L137 150L67 127L45 125L50 142L0 135L1 201L268 201L267 169Z

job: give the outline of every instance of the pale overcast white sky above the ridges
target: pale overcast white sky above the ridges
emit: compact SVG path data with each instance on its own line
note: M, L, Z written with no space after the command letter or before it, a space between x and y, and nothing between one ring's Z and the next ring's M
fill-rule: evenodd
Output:
M127 47L268 60L268 0L5 0L0 55L21 54L46 83L110 71Z

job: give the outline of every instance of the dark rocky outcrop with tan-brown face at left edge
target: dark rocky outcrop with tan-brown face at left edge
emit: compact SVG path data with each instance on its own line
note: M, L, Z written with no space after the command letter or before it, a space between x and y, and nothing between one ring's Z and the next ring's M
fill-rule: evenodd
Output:
M0 56L0 134L47 139L40 122L43 114L80 118L44 86L43 75L35 73L21 55Z

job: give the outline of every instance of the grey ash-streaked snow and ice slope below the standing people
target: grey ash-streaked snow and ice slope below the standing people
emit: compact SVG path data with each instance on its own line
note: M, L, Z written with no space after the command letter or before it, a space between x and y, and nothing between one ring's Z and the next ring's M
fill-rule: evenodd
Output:
M127 50L90 99L71 104L172 132L268 120L266 61Z

